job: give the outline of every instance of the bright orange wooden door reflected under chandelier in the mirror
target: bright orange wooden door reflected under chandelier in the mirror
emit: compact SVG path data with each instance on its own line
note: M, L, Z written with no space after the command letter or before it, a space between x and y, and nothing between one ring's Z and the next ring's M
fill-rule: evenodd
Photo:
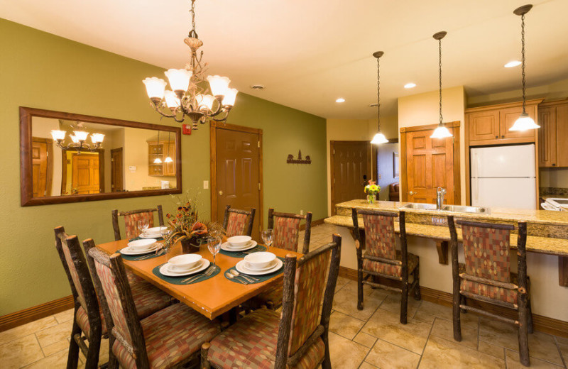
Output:
M72 194L98 194L99 155L74 154L72 157Z

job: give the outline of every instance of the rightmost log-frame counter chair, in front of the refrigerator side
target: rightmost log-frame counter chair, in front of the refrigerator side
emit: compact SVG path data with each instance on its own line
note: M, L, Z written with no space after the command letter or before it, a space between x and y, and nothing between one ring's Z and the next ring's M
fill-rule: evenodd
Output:
M452 243L454 339L461 341L462 310L513 324L518 328L520 363L529 366L528 334L532 333L532 309L525 250L526 222L518 222L518 272L513 273L510 271L509 253L510 232L515 226L460 219L454 221L454 216L448 216L447 219ZM461 226L464 264L458 263L456 224ZM468 306L468 299L512 309L517 313L517 319L493 314L491 309Z

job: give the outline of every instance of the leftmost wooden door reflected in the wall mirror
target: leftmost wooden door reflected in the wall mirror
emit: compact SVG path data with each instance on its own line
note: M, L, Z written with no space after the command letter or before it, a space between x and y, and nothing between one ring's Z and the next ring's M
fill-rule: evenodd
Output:
M51 195L53 177L53 141L50 138L32 138L32 188L33 197Z

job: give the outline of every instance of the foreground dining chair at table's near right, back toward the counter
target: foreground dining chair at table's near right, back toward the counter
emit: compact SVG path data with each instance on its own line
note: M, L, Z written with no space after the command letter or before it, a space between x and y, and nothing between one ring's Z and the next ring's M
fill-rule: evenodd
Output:
M334 234L300 259L286 255L282 314L261 308L229 326L203 344L202 368L331 368L329 315L341 243Z

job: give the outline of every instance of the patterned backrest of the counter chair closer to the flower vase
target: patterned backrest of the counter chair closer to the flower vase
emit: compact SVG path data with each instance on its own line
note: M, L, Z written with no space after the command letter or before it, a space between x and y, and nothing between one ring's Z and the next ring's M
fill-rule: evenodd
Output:
M363 216L365 229L365 249L367 255L378 258L396 260L396 234L395 221L398 217L400 225L400 247L403 255L406 253L406 226L405 212L398 213L378 210L351 209L351 219L355 228L356 240L361 243L361 231L359 230L359 214ZM403 242L404 241L404 242Z

